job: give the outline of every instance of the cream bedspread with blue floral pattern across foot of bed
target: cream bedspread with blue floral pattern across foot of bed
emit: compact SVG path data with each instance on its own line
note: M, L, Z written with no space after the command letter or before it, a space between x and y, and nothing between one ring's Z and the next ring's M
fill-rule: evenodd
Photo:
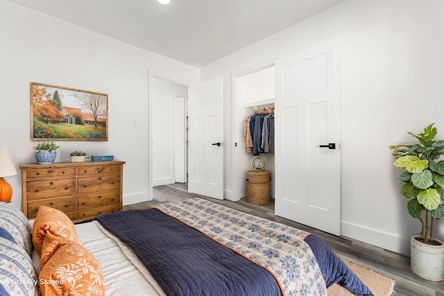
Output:
M266 268L283 295L326 294L321 270L304 241L308 232L200 198L155 208Z

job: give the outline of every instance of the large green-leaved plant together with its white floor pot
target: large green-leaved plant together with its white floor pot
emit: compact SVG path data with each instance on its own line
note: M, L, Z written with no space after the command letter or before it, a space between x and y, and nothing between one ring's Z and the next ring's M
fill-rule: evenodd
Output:
M404 182L402 195L407 211L421 223L421 232L411 238L411 269L431 281L444 279L444 243L434 238L434 222L444 218L444 140L435 141L434 123L424 132L413 134L419 143L390 146L394 166L404 168L398 176Z

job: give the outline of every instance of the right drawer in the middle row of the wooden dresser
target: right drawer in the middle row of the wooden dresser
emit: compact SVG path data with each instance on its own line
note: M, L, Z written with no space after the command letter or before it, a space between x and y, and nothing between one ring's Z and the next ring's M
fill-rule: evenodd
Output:
M119 174L79 177L77 194L120 189L120 177Z

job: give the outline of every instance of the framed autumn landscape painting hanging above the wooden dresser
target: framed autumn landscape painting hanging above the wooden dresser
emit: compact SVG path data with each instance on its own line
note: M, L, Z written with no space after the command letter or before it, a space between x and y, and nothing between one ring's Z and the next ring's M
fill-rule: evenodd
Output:
M31 139L108 141L108 94L31 82Z

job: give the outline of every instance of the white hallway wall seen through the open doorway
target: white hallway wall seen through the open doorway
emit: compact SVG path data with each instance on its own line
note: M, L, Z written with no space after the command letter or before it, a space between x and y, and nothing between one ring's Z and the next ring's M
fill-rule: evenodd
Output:
M153 78L153 186L175 182L173 98L177 97L187 98L188 87Z

